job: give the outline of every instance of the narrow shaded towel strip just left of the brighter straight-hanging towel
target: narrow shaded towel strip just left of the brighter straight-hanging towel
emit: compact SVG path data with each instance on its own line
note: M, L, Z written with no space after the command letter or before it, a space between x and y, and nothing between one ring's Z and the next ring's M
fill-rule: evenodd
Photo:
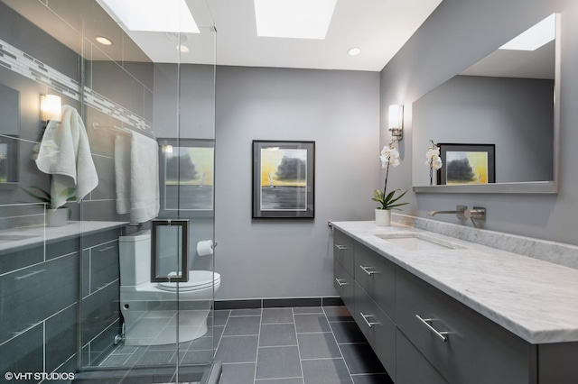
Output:
M115 180L117 183L117 214L130 212L130 138L117 134L115 138Z

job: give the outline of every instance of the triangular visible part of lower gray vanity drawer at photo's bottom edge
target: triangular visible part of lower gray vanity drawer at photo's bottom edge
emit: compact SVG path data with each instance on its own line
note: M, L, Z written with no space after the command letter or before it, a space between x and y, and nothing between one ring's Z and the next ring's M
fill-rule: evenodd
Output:
M397 330L396 384L448 384L429 361Z

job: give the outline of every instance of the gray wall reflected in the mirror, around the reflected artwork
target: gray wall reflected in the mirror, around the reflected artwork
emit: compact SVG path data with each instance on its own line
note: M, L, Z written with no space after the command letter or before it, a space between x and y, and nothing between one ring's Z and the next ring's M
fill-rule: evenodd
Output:
M421 97L412 105L414 185L429 185L430 140L495 144L497 183L552 180L553 87L547 79L456 76Z

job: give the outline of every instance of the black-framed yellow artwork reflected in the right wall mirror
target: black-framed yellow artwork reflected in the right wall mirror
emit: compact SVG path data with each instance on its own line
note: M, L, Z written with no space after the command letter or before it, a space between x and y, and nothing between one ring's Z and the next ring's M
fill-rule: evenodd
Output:
M438 143L443 167L437 170L438 185L488 184L496 182L495 144Z

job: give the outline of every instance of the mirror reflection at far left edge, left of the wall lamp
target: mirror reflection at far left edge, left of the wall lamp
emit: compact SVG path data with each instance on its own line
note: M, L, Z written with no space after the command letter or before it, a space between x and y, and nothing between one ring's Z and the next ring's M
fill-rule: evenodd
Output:
M20 93L0 84L0 100L0 183L17 183Z

